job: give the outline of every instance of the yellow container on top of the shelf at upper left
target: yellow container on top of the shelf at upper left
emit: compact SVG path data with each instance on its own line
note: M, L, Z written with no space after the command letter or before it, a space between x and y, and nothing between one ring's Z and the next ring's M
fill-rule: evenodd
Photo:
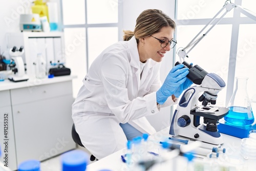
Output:
M42 0L36 0L34 1L34 5L31 7L31 9L32 13L39 14L40 17L47 16L49 22L48 7L46 2L43 2Z

